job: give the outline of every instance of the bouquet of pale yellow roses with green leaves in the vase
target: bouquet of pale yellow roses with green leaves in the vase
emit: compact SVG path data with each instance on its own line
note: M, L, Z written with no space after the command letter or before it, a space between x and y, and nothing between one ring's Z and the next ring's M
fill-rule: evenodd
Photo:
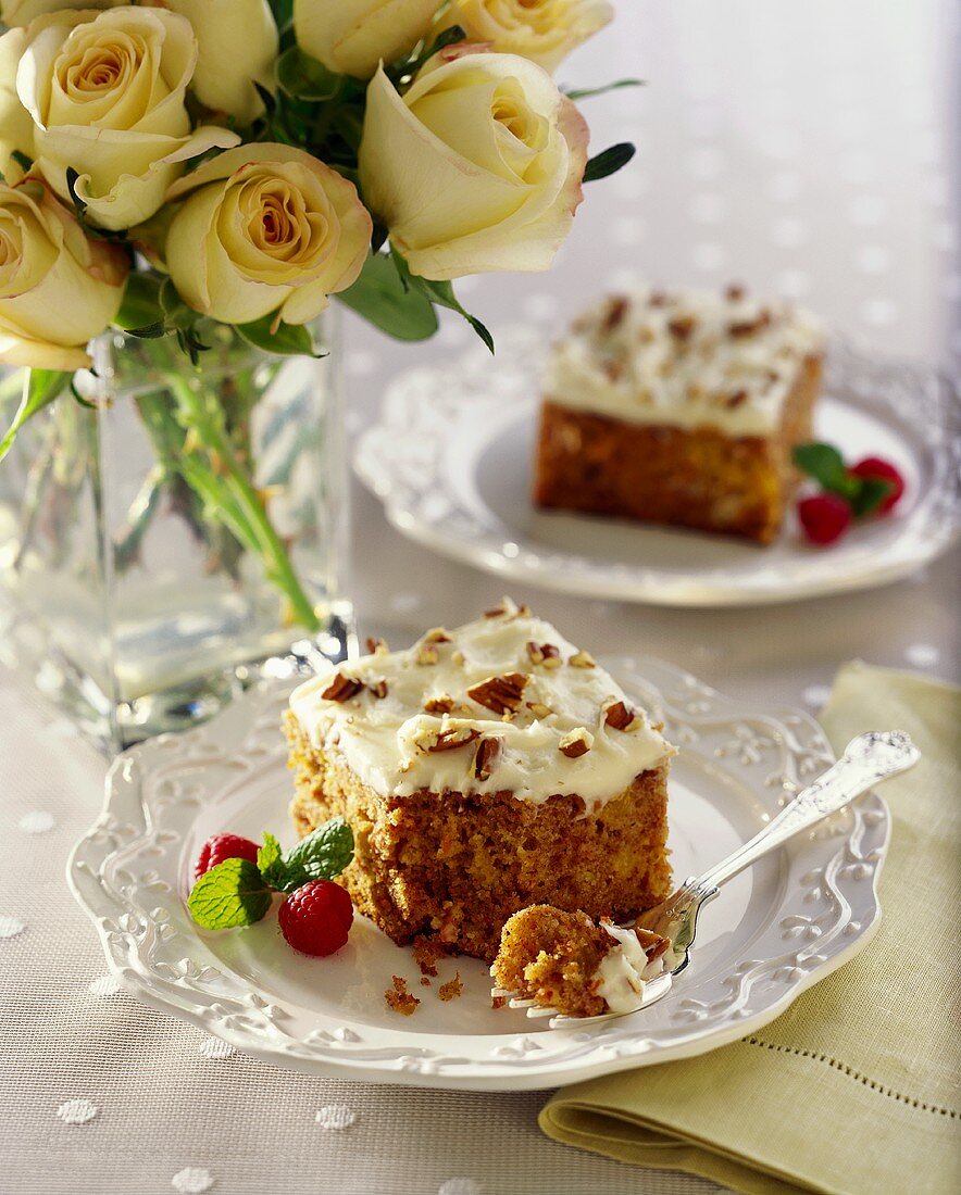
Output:
M225 329L313 353L335 295L412 341L452 308L492 348L453 281L547 269L582 183L632 153L588 159L574 100L593 92L549 73L606 0L0 0L0 364L30 367L0 456L54 398L84 400L71 378L109 327L176 343L186 375ZM175 415L224 439L189 386ZM185 480L209 489L228 451ZM269 531L262 496L238 501L237 526Z

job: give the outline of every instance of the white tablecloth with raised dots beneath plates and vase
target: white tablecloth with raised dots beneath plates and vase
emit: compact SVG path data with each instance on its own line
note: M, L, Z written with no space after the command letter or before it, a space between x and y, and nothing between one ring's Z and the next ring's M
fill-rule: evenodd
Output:
M472 280L495 337L551 335L633 277L803 299L853 339L950 368L961 360L959 59L950 0L622 0L618 24L561 71L641 74L590 100L595 148L638 141L592 184L550 275ZM953 123L954 122L954 123ZM384 385L471 335L424 348L348 327L351 430ZM391 531L354 488L349 590L362 635L400 644L472 617L498 582ZM748 612L656 611L514 589L595 652L669 658L752 703L816 709L861 656L951 676L957 560L874 593ZM99 807L104 760L16 673L0 674L0 1191L213 1190L307 1195L690 1195L715 1190L546 1141L538 1093L477 1095L302 1078L232 1054L117 991L63 883Z

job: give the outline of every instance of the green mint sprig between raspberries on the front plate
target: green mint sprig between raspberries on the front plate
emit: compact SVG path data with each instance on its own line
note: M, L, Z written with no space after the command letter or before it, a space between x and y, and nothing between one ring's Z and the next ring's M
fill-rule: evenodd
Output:
M267 915L275 891L292 893L311 880L333 880L354 858L354 833L332 817L302 838L284 856L273 834L264 834L257 863L225 859L194 884L186 907L204 930L253 925Z

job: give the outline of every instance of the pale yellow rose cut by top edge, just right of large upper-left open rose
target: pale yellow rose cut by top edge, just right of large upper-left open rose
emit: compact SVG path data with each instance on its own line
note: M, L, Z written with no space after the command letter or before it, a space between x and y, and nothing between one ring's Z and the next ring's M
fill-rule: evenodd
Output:
M277 26L267 0L155 0L186 17L194 26L200 56L190 87L215 112L241 124L263 111L252 80L274 86Z

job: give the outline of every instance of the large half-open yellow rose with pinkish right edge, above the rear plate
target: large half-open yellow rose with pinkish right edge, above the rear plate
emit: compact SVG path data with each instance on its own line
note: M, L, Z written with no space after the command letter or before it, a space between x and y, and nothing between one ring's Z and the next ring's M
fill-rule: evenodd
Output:
M371 80L361 189L414 274L546 270L581 201L587 140L540 67L453 47L403 97L382 71Z

